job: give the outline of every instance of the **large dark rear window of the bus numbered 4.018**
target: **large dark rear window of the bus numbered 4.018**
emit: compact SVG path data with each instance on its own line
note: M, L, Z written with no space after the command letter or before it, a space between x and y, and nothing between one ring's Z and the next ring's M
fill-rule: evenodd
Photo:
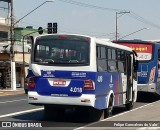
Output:
M33 62L43 65L89 65L90 40L78 36L44 36L36 40Z

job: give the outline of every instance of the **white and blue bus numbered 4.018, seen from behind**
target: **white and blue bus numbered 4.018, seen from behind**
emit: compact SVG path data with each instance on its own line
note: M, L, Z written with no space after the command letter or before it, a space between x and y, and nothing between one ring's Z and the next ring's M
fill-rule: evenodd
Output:
M115 106L131 109L137 99L136 54L90 36L36 37L28 78L28 102L43 105L46 117L82 108L97 120L110 116Z

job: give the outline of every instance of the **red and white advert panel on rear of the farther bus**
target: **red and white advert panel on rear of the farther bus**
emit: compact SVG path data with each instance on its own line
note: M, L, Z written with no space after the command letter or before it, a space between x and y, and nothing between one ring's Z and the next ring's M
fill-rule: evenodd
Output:
M152 44L123 43L123 45L131 47L138 55L137 60L141 62L152 59Z

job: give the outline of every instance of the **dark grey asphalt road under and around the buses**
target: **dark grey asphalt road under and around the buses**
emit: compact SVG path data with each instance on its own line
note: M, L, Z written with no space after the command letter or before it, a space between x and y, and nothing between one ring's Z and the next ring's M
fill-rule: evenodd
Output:
M141 93L134 108L160 100L159 96ZM117 107L113 110L113 116L126 112L125 108ZM135 115L136 116L136 115ZM27 95L19 94L0 97L0 121L42 122L44 126L61 127L64 129L76 129L89 125L88 115L83 111L67 110L59 119L45 119L43 107L28 104Z

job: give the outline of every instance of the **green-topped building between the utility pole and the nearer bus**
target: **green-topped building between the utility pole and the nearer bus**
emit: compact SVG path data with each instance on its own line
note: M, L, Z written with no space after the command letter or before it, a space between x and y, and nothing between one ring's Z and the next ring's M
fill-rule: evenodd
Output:
M38 30L33 29L32 26L28 26L26 28L22 28L22 27L14 28L14 37L15 37L14 51L15 51L15 63L16 63L16 86L17 87L24 87L24 78L28 73L31 43L30 43L29 37L27 36L34 37L37 35L39 35Z

